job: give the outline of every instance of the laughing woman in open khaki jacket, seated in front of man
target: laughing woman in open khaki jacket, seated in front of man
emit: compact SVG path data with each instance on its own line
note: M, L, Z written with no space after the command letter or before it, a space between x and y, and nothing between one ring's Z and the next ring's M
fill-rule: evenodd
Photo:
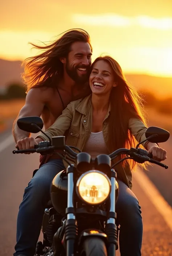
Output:
M71 102L56 122L45 131L47 135L50 137L64 135L67 131L66 144L76 146L90 153L92 157L98 154L110 154L118 148L135 146L136 140L140 142L146 138L147 126L140 98L134 89L128 86L119 64L113 58L99 57L93 62L89 84L91 95ZM47 140L44 134L38 135L35 143L42 140ZM154 159L159 161L166 159L166 151L157 144L146 142L143 146L153 154ZM47 168L48 173L54 168L56 173L64 169L65 163L63 164L62 160L53 159L54 156L51 158L48 163L40 167L39 173ZM119 183L116 213L120 224L121 256L141 255L143 224L138 200L131 191L132 167L134 163L127 161L116 166ZM54 171L54 176L56 173ZM38 176L35 177L34 182L38 182ZM49 191L48 183L47 188ZM31 188L28 186L27 189ZM44 201L45 198L48 199L48 192L46 193L44 197L42 194ZM42 212L43 208L42 206Z

